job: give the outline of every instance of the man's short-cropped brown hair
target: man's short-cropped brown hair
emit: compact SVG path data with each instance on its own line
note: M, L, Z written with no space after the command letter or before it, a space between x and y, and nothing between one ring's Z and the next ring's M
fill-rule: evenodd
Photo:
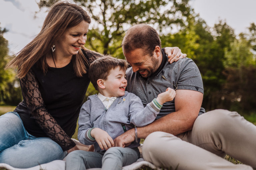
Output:
M161 48L161 40L157 31L145 24L131 27L125 34L122 47L124 53L129 53L136 48L144 49L144 54L153 55L156 46Z

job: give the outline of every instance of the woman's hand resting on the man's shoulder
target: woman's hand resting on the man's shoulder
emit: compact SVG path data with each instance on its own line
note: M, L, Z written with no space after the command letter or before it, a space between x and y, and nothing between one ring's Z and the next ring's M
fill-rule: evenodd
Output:
M179 47L165 47L165 53L168 55L168 61L173 63L174 61L178 61L181 58L185 58L187 54L183 54Z

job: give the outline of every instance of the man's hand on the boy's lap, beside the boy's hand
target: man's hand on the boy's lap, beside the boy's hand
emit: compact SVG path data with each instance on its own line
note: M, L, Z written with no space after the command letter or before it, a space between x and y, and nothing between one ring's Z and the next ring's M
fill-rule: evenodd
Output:
M120 136L117 136L114 139L114 142L115 142L115 146L125 147L125 146L129 146L131 142L133 142L134 140L135 140L135 131L134 131L134 128L132 128L130 130L127 130Z

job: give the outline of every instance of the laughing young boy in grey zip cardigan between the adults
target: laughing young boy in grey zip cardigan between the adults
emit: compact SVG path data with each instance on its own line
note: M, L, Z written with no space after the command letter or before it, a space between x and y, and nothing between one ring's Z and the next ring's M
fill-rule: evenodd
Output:
M89 77L98 95L88 97L78 119L78 139L85 145L94 144L94 152L75 150L66 158L66 169L102 168L121 170L140 157L136 139L129 146L113 147L117 136L126 130L152 123L162 104L175 97L168 88L144 108L140 98L125 91L127 62L106 56L95 60L89 67ZM135 127L134 127L135 126Z

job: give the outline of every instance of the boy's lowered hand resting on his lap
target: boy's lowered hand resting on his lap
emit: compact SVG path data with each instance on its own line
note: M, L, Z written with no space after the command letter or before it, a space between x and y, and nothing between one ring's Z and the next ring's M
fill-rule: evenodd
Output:
M100 128L93 128L91 130L91 136L95 138L96 142L99 144L102 150L108 150L114 146L112 137L110 137L106 131Z

